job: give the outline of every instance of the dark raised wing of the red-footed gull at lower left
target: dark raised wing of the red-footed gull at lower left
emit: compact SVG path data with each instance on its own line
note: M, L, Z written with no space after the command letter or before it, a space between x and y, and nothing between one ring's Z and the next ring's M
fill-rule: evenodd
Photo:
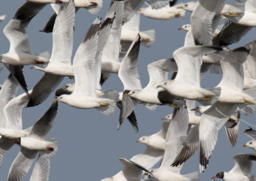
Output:
M51 107L44 115L36 121L32 130L30 131L28 136L33 136L36 138L45 138L46 134L50 131L53 120L57 115L58 110L58 102L52 103Z

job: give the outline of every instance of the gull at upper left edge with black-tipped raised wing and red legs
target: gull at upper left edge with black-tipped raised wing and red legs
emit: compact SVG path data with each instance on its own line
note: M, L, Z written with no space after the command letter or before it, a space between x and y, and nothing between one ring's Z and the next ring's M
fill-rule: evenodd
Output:
M3 33L10 41L10 49L9 52L0 56L2 61L4 56L8 57L9 61L12 60L10 57L13 56L17 59L19 58L19 54L26 55L22 56L26 59L28 57L36 57L36 55L31 55L32 51L28 41L28 34L26 34L26 27L28 26L31 19L35 17L35 15L39 13L39 11L44 8L44 6L45 4L26 2L19 8L19 10L16 11L12 20L10 20L10 22L8 22L8 24L4 27ZM23 61L26 60L23 59ZM36 63L34 60L30 59L30 61ZM12 73L12 75L20 83L22 89L28 94L28 89L21 66L13 66L9 64L4 64L4 66L6 66L10 73Z

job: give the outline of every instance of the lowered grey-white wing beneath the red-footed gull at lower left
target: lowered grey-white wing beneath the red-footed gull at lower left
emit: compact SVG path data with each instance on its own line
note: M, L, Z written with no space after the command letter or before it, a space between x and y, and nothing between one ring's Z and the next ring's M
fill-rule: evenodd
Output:
M18 181L28 173L31 164L36 157L37 151L21 148L18 156L13 161L8 173L8 181Z

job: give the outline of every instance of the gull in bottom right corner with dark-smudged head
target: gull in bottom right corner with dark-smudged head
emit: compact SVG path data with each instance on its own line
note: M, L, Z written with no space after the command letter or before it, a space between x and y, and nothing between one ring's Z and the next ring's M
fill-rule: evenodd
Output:
M235 166L232 170L217 173L214 178L222 178L225 181L255 180L255 175L251 176L252 161L256 161L256 154L236 154L233 156Z

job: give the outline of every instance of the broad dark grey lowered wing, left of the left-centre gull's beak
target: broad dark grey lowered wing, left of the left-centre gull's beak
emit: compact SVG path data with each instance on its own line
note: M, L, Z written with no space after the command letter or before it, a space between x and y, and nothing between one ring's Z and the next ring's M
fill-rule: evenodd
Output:
M27 107L36 106L45 101L56 87L63 80L64 76L52 75L45 73L45 75L36 83L33 91L29 96Z

